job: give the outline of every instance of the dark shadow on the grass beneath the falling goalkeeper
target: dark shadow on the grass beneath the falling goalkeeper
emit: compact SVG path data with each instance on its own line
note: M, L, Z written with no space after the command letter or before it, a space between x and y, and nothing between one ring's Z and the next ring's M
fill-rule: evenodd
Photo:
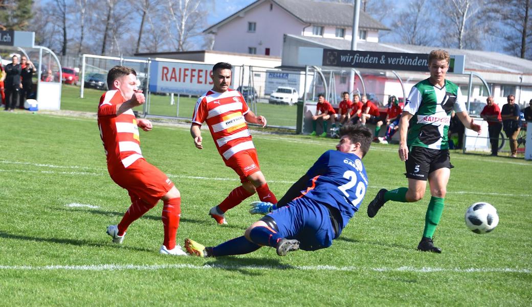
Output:
M213 261L205 263L205 265L210 265L211 267L231 272L236 271L249 276L263 275L261 270L256 269L263 269L264 271L297 269L293 265L279 262L279 260L276 259L278 256L275 253L273 253L272 257L275 258L240 258L238 256L226 256L215 258Z

